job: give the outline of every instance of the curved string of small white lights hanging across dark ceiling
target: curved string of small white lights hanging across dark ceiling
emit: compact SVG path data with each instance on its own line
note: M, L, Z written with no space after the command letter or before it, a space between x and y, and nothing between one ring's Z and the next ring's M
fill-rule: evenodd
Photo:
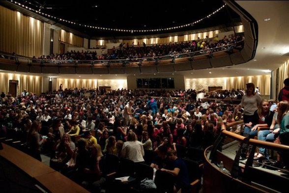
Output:
M171 27L171 28L164 28L164 29L151 29L151 30L126 30L126 29L113 29L113 28L105 28L105 27L99 27L99 26L89 26L89 25L85 25L85 24L78 24L78 23L75 23L75 22L71 22L71 21L68 21L68 20L65 20L65 19L62 19L62 18L58 18L58 17L55 17L55 16L52 16L52 15L49 15L49 14L46 14L46 13L43 13L41 11L38 11L38 10L35 10L35 9L32 9L28 6L25 6L17 1L14 1L14 0L11 0L11 2L14 2L15 4L19 5L19 6L22 6L23 8L26 8L27 10L29 11L33 11L39 15L43 15L43 16L46 16L48 18L51 18L51 19L56 19L60 22L66 22L66 23L69 23L69 24L73 24L73 25L77 25L77 26L81 26L81 27L86 27L86 28L92 28L92 29L97 29L97 30L105 30L105 31L116 31L116 32L159 32L159 31L170 31L170 30L175 30L175 29L179 29L179 28L185 28L185 27L188 27L188 26L193 26L199 22L202 22L202 20L204 19L208 19L210 18L212 15L216 14L217 12L219 12L220 10L222 10L226 4L224 4L223 6L221 6L219 9L215 10L214 12L212 12L211 14L203 17L202 19L198 20L198 21L195 21L195 22L192 22L192 23L189 23L189 24L185 24L185 25L181 25L181 26L174 26L174 27Z

